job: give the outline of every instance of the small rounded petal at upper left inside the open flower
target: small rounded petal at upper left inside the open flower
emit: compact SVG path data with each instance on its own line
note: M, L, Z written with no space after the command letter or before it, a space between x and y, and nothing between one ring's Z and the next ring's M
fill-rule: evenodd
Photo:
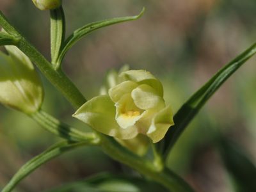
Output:
M134 88L138 86L137 83L132 81L124 81L113 88L109 89L108 94L113 102L118 102L123 95L131 93Z

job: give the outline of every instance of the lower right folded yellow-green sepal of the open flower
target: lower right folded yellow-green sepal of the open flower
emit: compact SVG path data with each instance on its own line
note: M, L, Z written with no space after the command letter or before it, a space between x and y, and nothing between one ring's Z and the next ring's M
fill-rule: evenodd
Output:
M162 109L156 116L154 116L152 124L147 132L147 136L152 139L153 143L162 140L169 127L174 125L172 116L172 109L170 106Z

